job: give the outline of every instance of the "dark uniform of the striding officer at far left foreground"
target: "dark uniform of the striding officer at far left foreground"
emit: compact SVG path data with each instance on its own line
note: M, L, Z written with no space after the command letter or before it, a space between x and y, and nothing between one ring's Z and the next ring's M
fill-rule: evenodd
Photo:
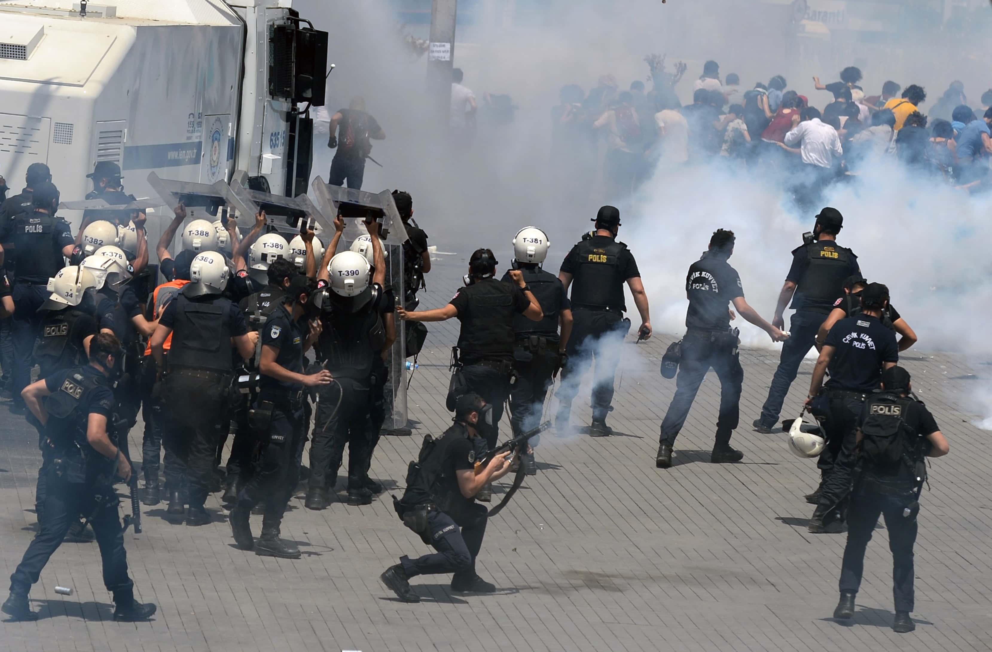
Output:
M46 400L46 428L53 462L49 465L49 491L41 530L28 546L10 578L14 594L27 594L42 569L62 544L69 526L86 514L96 534L103 560L103 584L114 602L134 601L134 584L128 578L124 534L117 518L117 494L112 486L114 461L94 451L86 442L91 414L106 417L111 425L114 397L109 381L92 366L56 372L45 379L52 395ZM111 435L111 441L114 437Z

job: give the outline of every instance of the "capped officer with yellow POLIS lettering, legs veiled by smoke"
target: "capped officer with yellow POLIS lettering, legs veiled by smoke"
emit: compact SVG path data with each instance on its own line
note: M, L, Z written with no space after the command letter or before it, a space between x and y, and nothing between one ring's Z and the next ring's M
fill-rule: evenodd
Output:
M613 410L610 404L613 379L620 363L620 344L630 329L630 320L623 316L627 310L623 295L625 282L641 315L638 333L644 339L651 337L651 316L634 255L626 244L616 239L620 211L603 206L592 221L596 230L571 248L558 272L565 291L571 286L574 326L566 349L568 362L561 370L555 425L558 431L567 428L571 401L578 393L581 376L595 357L589 435L607 437L612 433L606 425L606 415Z

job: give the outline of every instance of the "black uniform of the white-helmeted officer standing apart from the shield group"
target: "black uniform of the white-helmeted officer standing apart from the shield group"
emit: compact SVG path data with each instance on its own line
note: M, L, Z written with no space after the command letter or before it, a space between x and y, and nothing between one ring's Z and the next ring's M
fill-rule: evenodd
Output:
M558 318L561 311L571 307L557 276L537 265L520 265L520 271L541 305L544 318L534 322L520 314L513 316L516 337L513 368L517 380L510 391L510 423L516 435L541 425L545 398L561 363ZM503 276L503 281L513 282L509 272Z

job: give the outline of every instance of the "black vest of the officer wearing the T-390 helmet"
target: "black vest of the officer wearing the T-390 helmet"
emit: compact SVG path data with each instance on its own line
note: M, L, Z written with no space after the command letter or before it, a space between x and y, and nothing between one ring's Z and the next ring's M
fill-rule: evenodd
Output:
M382 315L375 310L381 289L376 287L371 301L357 313L331 309L321 315L318 347L326 369L335 378L368 381L372 372L382 366L376 358L386 343L386 327Z

